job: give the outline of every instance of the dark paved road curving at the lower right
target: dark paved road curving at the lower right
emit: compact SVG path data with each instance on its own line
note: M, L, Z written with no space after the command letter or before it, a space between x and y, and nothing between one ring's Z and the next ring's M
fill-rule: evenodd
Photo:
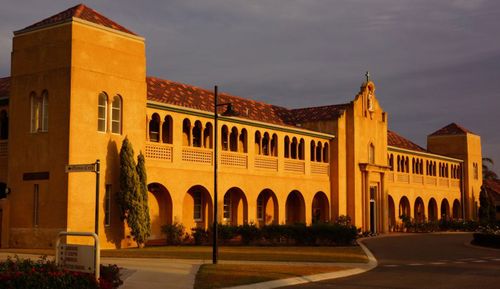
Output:
M500 288L500 250L469 245L471 234L368 239L378 267L364 274L283 288Z

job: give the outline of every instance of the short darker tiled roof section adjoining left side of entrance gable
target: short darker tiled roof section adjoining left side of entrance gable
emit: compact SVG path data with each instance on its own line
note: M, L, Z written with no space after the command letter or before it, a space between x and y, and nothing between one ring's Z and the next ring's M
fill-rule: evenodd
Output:
M304 123L319 120L337 119L349 106L348 103L318 107L291 109L288 122Z

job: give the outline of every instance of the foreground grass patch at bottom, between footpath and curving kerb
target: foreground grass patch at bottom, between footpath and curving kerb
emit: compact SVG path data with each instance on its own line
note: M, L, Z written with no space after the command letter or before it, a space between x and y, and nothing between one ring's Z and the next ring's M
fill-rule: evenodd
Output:
M224 288L277 279L334 272L337 266L205 264L196 274L194 289Z

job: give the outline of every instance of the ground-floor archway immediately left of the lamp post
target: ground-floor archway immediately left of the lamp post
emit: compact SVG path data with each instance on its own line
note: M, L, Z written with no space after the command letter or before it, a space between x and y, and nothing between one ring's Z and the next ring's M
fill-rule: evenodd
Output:
M208 190L200 185L191 187L184 196L182 224L186 229L208 229L213 223L213 203Z

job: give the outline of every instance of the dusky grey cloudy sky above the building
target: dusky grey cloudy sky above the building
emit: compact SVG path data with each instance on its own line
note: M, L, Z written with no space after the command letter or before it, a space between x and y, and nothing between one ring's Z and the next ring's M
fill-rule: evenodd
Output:
M12 31L79 3L0 0L0 76ZM82 3L146 38L149 76L296 108L349 102L370 71L389 129L425 147L456 122L500 174L498 0Z

